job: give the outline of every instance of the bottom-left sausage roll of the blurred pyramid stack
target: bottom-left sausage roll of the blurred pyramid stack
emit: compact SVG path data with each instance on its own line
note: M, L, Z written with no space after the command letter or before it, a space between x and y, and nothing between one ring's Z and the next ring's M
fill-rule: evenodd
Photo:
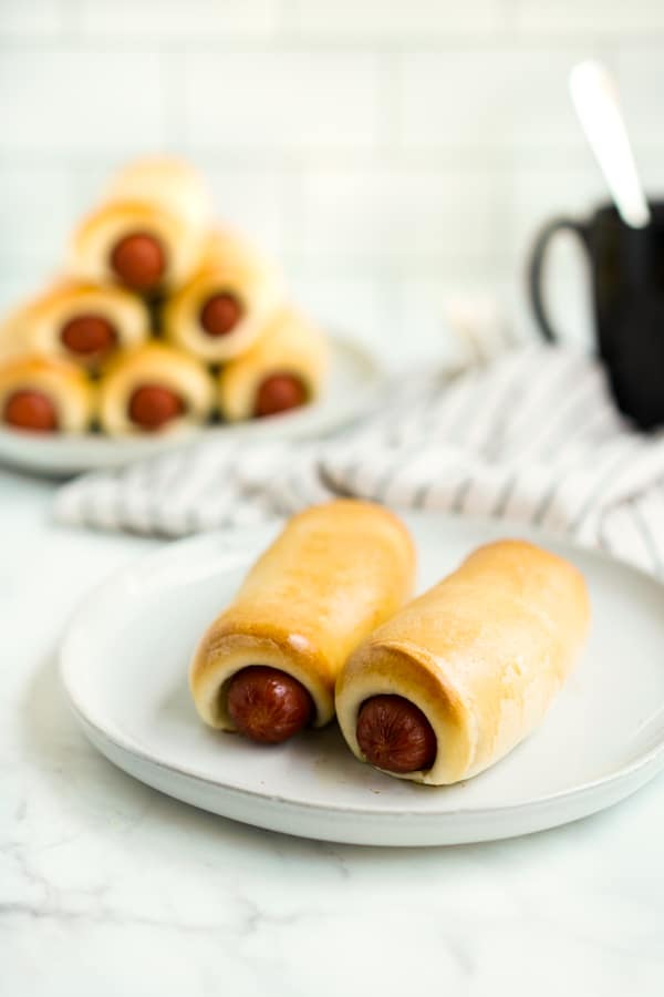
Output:
M83 371L49 357L0 363L0 414L6 426L39 433L83 433L94 415L95 392Z

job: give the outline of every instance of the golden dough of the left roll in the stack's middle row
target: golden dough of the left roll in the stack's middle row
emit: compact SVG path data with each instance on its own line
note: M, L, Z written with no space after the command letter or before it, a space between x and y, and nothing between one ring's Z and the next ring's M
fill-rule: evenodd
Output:
M138 346L149 335L147 308L135 295L118 287L62 280L19 308L9 318L3 338L14 353L54 357L96 369L98 357L75 353L61 338L69 321L91 315L104 319L115 331L112 352ZM108 353L104 354L104 360L107 359Z

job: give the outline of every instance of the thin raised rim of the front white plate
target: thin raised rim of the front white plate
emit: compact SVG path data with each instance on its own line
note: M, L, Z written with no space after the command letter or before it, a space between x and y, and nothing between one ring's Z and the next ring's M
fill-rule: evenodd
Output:
M408 515L413 517L429 517L429 518L439 518L445 517L450 521L464 522L471 525L476 525L477 527L487 527L487 526L496 526L497 521L491 520L489 517L484 516L460 516L455 515L453 513L443 513L435 511L421 511L421 510L404 510L396 508L395 512L404 518L408 518ZM591 794L595 791L599 791L603 788L608 788L611 785L618 785L622 781L630 779L630 777L636 775L642 770L647 770L651 767L654 767L655 774L660 768L664 768L664 729L658 741L651 747L647 751L637 754L637 757L631 761L627 761L618 768L612 768L604 775L600 775L596 779L591 779L587 782L582 782L579 785L574 785L571 789L561 789L551 793L547 793L540 796L533 796L527 801L520 801L516 803L504 803L504 804L495 804L491 806L458 806L454 810L447 811L418 811L418 810L409 810L407 806L400 806L396 809L383 809L380 811L376 810L367 810L361 805L339 805L339 804L325 804L325 803L312 803L307 800L298 800L289 796L283 796L280 793L273 792L261 792L255 789L250 789L247 787L234 785L228 782L220 781L218 779L211 779L206 775L201 775L200 773L190 771L187 768L181 768L180 765L167 763L162 759L151 754L149 751L146 751L139 744L135 744L131 737L125 737L122 732L113 731L112 729L104 728L93 718L91 718L85 709L81 706L80 700L75 692L73 691L70 681L69 681L69 672L71 671L72 666L70 661L68 661L68 657L71 656L70 646L75 641L79 629L84 626L85 617L97 599L103 598L107 592L112 592L117 585L122 584L122 580L125 577L131 577L137 568L141 566L147 565L153 561L162 559L166 557L169 559L170 556L175 554L178 556L183 549L187 547L194 547L197 544L206 542L214 542L215 537L224 538L228 542L232 538L232 547L238 551L247 549L247 545L251 543L251 537L253 536L253 543L258 543L260 539L261 533L267 533L268 531L273 531L278 527L279 524L283 523L284 520L281 517L274 517L273 520L266 521L260 524L252 524L249 526L242 526L230 530L215 530L204 534L196 534L195 536L188 536L178 541L174 541L168 543L164 547L159 547L157 551L152 551L148 554L139 555L137 558L132 561L128 565L124 565L121 568L112 572L105 579L103 579L98 585L96 585L85 597L84 599L75 607L73 613L71 614L68 624L64 629L63 637L60 643L60 647L58 650L58 670L59 677L62 685L62 688L65 692L68 705L72 710L76 721L82 726L85 731L86 726L92 728L97 736L113 744L116 749L133 756L134 758L139 759L142 762L146 762L149 765L154 765L160 771L164 772L174 772L178 777L193 780L197 784L218 790L224 793L232 793L234 795L242 796L248 800L263 801L270 802L273 804L279 804L289 809L300 809L305 810L310 813L318 813L320 815L323 814L344 814L349 816L363 816L370 818L372 820L392 820L394 818L403 819L403 820L413 820L416 822L426 822L429 820L437 821L449 821L450 819L458 819L459 816L467 816L468 819L473 819L476 821L483 820L491 820L491 818L501 816L509 818L510 815L517 814L519 811L528 810L528 811L540 811L548 806L554 806L556 803L561 801L571 801L575 800L580 796ZM656 586L657 588L664 589L664 583L660 582L657 578L654 578L652 575L647 574L645 571L639 568L635 565L629 564L619 558L610 557L605 552L601 549L595 549L592 547L585 547L578 543L574 543L569 537L559 536L557 534L552 534L549 531L540 530L538 527L530 527L528 524L519 524L513 521L505 521L504 525L508 527L512 527L515 530L522 528L528 536L539 536L543 544L547 543L547 538L549 543L552 543L557 546L567 547L570 551L582 552L585 555L592 556L600 562L605 562L612 565L618 565L622 571L626 571L627 573L635 574L640 578L645 579L651 585ZM251 547L247 549L248 557L255 556L255 552ZM527 739L523 743L527 743ZM95 748L98 747L95 744ZM361 764L357 762L357 764ZM124 770L127 771L127 770ZM139 778L131 773L133 778ZM463 780L460 784L467 782L469 780ZM428 788L427 788L428 791ZM567 821L563 821L566 823ZM523 833L523 832L517 832Z

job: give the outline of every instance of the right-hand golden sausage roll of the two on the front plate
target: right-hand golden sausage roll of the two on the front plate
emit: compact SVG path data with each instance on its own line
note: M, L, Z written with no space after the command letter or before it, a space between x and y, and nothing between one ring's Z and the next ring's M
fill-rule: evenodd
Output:
M336 688L351 751L430 785L476 775L540 722L589 615L567 561L521 541L480 547L351 656Z

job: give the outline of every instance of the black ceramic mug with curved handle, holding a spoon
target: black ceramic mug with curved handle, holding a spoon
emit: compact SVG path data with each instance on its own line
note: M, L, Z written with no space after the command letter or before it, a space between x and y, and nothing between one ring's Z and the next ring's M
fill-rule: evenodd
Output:
M588 222L554 218L536 239L530 300L544 338L552 329L543 300L543 264L551 237L573 232L590 260L599 354L620 409L643 429L664 423L664 202L650 205L645 228L630 228L613 206Z

